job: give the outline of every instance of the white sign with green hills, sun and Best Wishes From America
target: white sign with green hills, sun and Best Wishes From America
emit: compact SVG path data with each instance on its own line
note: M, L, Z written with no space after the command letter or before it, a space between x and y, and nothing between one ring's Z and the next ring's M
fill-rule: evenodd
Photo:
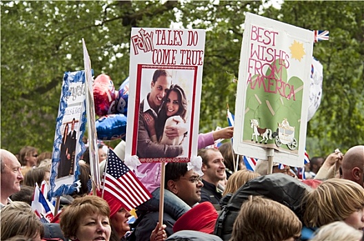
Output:
M246 13L236 154L267 160L274 153L274 162L303 166L313 41L310 30Z

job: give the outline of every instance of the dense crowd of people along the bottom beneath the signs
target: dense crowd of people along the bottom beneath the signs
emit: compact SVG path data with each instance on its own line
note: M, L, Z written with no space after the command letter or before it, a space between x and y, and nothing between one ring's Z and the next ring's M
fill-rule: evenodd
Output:
M227 142L221 149L225 145L231 148ZM23 154L23 149L30 152ZM222 240L214 230L219 213L247 182L276 173L298 179L294 168L274 168L275 163L273 174L268 175L264 160L259 160L256 171L245 169L243 163L239 163L237 171L230 171L225 167L225 160L231 156L223 156L217 148L201 148L202 176L188 169L188 163L165 166L164 189L168 194L163 225L159 224L159 208L155 206L158 195L153 197L154 204L148 205L148 201L136 207L133 212L136 221L128 223L132 216L130 210L112 200L90 195L87 188L63 197L66 201L61 215L55 223L44 224L30 205L34 185L49 181L50 156L44 154L43 160L34 160L28 168L32 158L38 156L37 149L23 149L19 158L1 149L1 240L21 240L21 237L52 240L54 235L60 240L179 240L181 237ZM269 195L253 194L242 203L230 240L362 240L364 146L354 146L345 155L335 151L326 158L312 159L318 161L310 163L313 168L307 167L310 179L300 180L309 187L301 198L301 216ZM87 186L89 164L81 162L80 168L85 168L81 175L85 180L81 182ZM232 174L223 187L220 181L228 176L227 172Z

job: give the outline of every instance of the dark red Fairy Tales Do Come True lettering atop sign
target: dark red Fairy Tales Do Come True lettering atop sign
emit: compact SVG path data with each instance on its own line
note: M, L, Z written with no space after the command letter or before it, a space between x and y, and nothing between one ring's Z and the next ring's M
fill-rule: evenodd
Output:
M188 34L187 39L183 34ZM152 52L152 63L155 65L203 65L203 50L196 49L198 43L199 32L195 30L146 32L141 28L139 34L132 36L134 54ZM158 48L162 46L176 48ZM185 49L183 46L186 46Z

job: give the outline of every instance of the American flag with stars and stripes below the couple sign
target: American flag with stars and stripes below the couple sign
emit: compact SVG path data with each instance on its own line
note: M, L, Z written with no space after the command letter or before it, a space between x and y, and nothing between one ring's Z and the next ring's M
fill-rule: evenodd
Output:
M120 202L128 211L152 197L139 179L110 148L103 172L101 190L104 199Z

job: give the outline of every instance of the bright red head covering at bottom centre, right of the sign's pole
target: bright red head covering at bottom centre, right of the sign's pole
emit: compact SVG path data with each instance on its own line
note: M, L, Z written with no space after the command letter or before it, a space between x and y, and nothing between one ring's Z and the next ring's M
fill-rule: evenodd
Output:
M194 230L214 233L218 213L211 202L202 202L183 214L173 226L174 233L181 230Z

